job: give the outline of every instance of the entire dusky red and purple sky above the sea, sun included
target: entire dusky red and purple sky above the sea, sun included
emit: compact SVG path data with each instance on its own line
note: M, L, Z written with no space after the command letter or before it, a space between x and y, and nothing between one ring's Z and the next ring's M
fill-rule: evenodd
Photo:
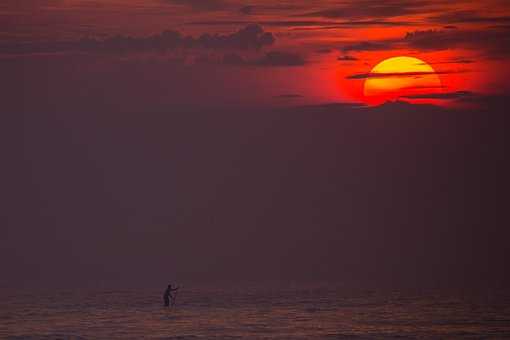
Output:
M503 0L4 0L0 286L508 282L508 46Z

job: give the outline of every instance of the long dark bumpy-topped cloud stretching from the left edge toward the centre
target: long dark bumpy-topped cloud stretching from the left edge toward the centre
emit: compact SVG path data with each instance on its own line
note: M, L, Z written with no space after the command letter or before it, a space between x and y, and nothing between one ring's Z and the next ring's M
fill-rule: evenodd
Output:
M272 33L255 24L232 34L202 34L197 38L183 36L177 31L164 31L148 37L118 35L104 40L84 38L68 42L12 43L0 45L0 53L55 53L55 52L143 52L165 51L176 48L202 49L260 49L272 45Z

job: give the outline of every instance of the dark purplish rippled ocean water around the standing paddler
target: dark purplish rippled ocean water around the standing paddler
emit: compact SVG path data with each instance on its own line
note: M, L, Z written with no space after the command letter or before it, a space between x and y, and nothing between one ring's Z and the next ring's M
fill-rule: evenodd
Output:
M2 339L510 338L510 296L338 287L1 294Z

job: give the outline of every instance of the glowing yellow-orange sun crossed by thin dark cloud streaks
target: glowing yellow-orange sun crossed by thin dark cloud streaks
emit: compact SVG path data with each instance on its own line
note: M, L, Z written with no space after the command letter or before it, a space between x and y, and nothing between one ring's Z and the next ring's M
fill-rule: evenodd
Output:
M368 103L379 104L441 89L441 80L432 66L418 58L399 56L374 66L366 75L363 94Z

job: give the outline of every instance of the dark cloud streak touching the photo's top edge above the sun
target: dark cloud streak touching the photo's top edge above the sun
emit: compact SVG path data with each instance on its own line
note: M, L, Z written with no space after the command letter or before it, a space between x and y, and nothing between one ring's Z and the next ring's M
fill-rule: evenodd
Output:
M300 14L303 17L323 17L335 19L392 18L420 13L430 5L429 1L413 0L363 0L341 4L339 6Z

